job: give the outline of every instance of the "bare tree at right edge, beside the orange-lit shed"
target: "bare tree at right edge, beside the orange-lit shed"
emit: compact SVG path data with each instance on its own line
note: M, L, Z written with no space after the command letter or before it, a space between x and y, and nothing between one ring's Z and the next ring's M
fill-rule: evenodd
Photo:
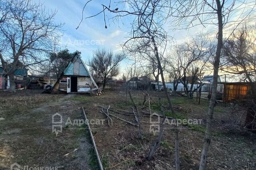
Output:
M242 76L251 86L250 107L247 110L245 127L256 129L256 31L255 25L242 25L232 33L223 45L223 58L220 69Z

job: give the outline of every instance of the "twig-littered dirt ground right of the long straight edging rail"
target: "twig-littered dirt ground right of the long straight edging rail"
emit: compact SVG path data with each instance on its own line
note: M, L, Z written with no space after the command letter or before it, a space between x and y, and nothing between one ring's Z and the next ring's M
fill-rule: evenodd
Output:
M139 111L142 110L144 95L141 91L132 92ZM164 94L162 100L164 100ZM157 94L152 96L152 113L160 114L156 106ZM89 119L105 119L98 106L110 106L113 110L132 111L132 103L126 102L125 92L107 91L100 97L76 96L86 108ZM179 133L181 169L197 170L204 142L206 126L206 111L208 101L201 101L186 97L172 96L172 103L177 109L178 118L202 119L201 125L182 126ZM208 169L256 169L256 143L255 135L247 132L230 132L226 125L229 123L228 112L232 105L224 107L217 104L215 107L212 130L212 145L208 157ZM147 108L148 109L148 108ZM145 111L145 110L144 110ZM111 114L136 123L133 115ZM237 114L237 113L236 113ZM243 113L241 113L243 114ZM170 115L168 111L166 115ZM108 127L106 121L103 125L91 125L98 151L107 169L174 169L174 134L170 125L166 126L160 147L152 160L147 160L147 154L154 144L158 134L150 132L150 118L141 117L142 140L138 140L138 128L116 118L113 119L113 127Z

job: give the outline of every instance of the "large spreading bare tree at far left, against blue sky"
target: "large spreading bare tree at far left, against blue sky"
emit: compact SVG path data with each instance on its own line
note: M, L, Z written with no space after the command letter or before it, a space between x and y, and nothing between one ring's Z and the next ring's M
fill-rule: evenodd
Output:
M56 24L56 11L49 13L42 4L30 0L0 3L0 61L10 78L10 91L15 92L17 63L23 63L25 68L48 61L52 37L60 37L63 24Z

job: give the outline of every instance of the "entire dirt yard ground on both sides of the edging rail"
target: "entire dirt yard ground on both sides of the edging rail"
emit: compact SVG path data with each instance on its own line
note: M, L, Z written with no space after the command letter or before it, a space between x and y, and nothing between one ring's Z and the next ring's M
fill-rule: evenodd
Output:
M161 95L166 103L164 94ZM133 91L132 96L139 111L148 110L148 104L146 109L142 109L143 92ZM152 113L160 114L157 94L150 96ZM172 102L178 118L202 119L201 125L181 126L179 133L181 169L196 170L204 142L208 102L201 101L198 105L196 100L180 96L172 96ZM97 169L86 127L65 124L68 117L71 122L81 119L82 106L90 119L104 169L174 169L174 134L171 125L166 125L152 160L147 160L147 155L158 134L150 132L150 117L140 117L142 140L138 139L137 127L114 117L113 126L108 127L106 116L100 113L99 106L132 111L132 103L129 96L126 101L125 92L106 91L102 96L39 94L29 90L11 95L0 92L0 104L1 170L9 169L14 162L28 167ZM229 112L233 108L234 105L224 107L221 104L215 107L208 169L256 169L255 134L230 131ZM55 113L61 114L63 120L62 133L57 137L52 133L52 115ZM133 115L109 113L136 123ZM165 114L172 117L170 111L165 111ZM95 120L101 123L95 123ZM64 156L67 153L70 154Z

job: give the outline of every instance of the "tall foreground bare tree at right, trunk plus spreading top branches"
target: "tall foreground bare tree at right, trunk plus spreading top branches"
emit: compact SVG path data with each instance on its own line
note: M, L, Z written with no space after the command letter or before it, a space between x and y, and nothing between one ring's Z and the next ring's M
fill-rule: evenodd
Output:
M254 20L255 18L250 16L250 14L254 11L256 2L238 2L236 0L232 2L225 0L176 0L173 4L174 12L172 16L174 20L171 23L177 25L177 29L188 29L196 25L203 25L204 27L207 25L217 26L217 46L213 63L212 95L207 113L204 148L202 150L199 168L200 170L204 170L206 169L206 160L211 143L212 117L217 95L218 69L223 45L223 29L234 24L237 25L244 20ZM238 11L240 14L238 17L230 17Z

